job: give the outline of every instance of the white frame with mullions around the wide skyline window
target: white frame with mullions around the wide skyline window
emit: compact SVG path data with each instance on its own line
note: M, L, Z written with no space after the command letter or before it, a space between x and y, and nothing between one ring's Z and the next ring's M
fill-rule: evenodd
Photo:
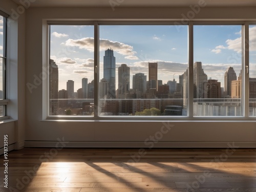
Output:
M45 25L47 25L47 31L49 31L50 25L94 25L94 80L95 80L95 90L94 90L94 116L49 116L49 99L47 99L46 108L43 108L43 119L45 120L131 120L131 121L255 121L255 117L249 117L249 25L255 24L256 20L189 20L188 22L181 22L180 20L45 20ZM100 116L99 115L99 26L100 25L185 25L188 26L188 105L187 105L187 116L158 116L152 118L152 116ZM242 26L242 76L243 76L243 88L242 88L242 98L241 98L241 114L242 116L193 116L193 102L194 102L194 25L241 25ZM44 34L47 39L49 39L49 33ZM44 38L43 38L44 39ZM48 63L49 66L49 47L50 42L47 41L47 53L44 56L43 63ZM43 49L44 50L44 49ZM44 57L43 57L44 58ZM44 62L47 61L47 62ZM48 94L49 83L47 87ZM49 97L49 96L48 96ZM45 97L44 98L48 98ZM46 100L43 100L43 103Z

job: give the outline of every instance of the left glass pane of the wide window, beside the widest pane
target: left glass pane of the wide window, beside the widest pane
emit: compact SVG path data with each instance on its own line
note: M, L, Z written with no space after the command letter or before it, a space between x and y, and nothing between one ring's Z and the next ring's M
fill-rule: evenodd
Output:
M50 26L49 115L91 116L94 26Z

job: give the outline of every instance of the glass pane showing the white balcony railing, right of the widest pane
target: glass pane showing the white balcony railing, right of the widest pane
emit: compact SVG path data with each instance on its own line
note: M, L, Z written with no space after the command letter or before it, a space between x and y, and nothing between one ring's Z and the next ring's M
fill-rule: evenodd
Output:
M194 26L194 116L241 116L242 26Z

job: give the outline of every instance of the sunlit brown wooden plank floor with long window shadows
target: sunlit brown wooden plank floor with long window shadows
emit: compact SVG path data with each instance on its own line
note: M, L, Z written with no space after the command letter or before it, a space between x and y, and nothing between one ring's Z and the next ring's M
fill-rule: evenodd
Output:
M255 149L24 148L8 160L0 191L256 191Z

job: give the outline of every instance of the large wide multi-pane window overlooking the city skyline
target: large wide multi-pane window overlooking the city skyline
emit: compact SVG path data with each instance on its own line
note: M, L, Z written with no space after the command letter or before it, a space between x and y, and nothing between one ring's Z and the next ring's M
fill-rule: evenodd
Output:
M246 79L245 27L51 24L49 116L256 116L256 33Z

